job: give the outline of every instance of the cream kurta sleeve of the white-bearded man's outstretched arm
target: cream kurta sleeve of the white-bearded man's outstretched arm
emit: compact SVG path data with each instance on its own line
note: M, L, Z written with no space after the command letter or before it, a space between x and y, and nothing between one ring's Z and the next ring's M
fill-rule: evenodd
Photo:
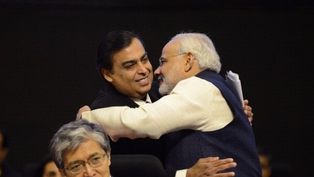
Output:
M96 109L83 112L82 118L101 125L117 141L119 137L159 139L181 129L216 130L231 122L233 115L213 84L191 77L155 103Z

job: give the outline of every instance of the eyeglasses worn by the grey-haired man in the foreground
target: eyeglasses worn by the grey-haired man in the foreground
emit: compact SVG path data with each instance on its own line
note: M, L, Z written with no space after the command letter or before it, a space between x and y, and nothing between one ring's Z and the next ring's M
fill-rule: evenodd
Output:
M84 161L77 161L68 167L65 167L66 170L69 170L72 174L79 173L83 171L85 164L88 163L92 167L98 167L102 164L104 155L107 155L107 153L104 154L96 154L92 156L87 162Z

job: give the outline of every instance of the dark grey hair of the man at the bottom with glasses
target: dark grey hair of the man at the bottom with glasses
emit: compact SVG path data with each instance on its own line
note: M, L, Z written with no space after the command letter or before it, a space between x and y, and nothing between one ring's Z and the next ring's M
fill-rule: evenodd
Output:
M65 152L75 150L90 139L98 142L106 153L111 150L109 137L101 126L86 120L73 121L63 125L50 141L50 153L56 166L63 169Z

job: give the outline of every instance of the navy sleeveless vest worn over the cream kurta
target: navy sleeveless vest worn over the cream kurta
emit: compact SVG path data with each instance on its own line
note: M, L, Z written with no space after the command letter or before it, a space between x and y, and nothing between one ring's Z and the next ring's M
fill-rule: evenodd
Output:
M213 83L221 91L234 120L215 131L180 130L166 134L166 149L169 151L165 157L165 169L190 168L200 158L218 156L220 159L234 159L237 167L226 171L234 171L236 176L261 176L254 133L239 101L219 74L203 71L196 76Z

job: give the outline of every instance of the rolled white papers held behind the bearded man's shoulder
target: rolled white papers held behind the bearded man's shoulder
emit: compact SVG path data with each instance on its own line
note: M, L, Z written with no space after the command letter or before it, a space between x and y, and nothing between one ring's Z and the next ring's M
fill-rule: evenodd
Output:
M242 106L244 106L243 93L242 93L241 81L239 79L239 74L234 73L232 71L227 71L226 82L229 85L231 91L235 94L237 99L240 101Z

